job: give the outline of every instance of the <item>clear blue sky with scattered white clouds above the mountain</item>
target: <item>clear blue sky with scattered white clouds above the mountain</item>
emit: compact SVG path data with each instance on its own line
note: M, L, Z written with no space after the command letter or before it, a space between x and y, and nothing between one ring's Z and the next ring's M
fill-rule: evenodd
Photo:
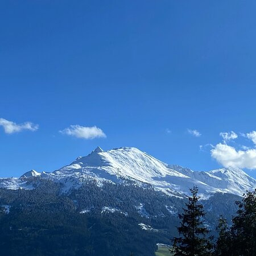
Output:
M53 171L99 145L256 177L255 11L236 0L1 1L0 176Z

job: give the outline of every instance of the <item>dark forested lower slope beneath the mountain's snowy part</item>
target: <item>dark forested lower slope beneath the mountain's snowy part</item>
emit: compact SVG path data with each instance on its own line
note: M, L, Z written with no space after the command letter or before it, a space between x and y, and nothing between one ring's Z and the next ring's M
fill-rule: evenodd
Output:
M35 189L0 189L1 255L155 255L156 243L170 244L177 236L178 214L187 201L150 185L100 187L88 181L63 193L60 183L30 182ZM202 200L213 233L218 214L231 220L237 199L216 193ZM143 230L141 223L152 228Z

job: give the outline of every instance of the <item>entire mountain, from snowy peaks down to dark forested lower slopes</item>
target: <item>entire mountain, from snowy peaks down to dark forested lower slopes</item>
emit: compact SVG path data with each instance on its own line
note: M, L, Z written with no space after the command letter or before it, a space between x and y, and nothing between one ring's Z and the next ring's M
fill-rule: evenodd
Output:
M256 187L242 170L193 172L137 148L96 148L51 173L1 179L1 255L155 255L177 236L193 183L212 233L218 216L231 220L241 191Z

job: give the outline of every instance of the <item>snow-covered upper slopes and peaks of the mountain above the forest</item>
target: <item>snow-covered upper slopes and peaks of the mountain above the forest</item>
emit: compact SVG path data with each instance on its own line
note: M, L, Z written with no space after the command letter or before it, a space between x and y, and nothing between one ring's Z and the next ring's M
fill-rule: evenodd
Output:
M104 151L97 147L89 155L77 158L68 166L47 173L26 172L20 178L0 179L0 187L16 189L31 188L26 179L42 177L61 182L68 191L79 187L84 181L96 180L123 183L132 180L138 185L151 184L165 193L188 193L197 185L201 194L226 192L242 195L246 190L256 188L256 180L239 168L222 168L207 172L192 171L176 165L161 162L134 147L114 148Z

